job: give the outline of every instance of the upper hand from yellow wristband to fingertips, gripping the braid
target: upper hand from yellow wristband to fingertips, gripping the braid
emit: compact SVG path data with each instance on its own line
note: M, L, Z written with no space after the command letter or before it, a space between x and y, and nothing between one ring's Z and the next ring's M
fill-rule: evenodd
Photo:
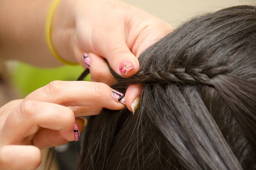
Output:
M69 11L61 10L67 7ZM63 23L58 18L63 18L65 12L69 14L70 19ZM53 32L58 32L61 28L69 28L63 31L63 36L60 33L53 33L57 52L67 60L70 60L72 54L75 55L76 60L85 68L88 65L84 63L82 54L91 52L89 58L87 54L84 58L86 57L85 62L89 64L92 79L108 85L113 84L115 79L102 58L107 59L116 73L129 77L139 69L138 56L150 45L173 31L170 24L155 16L114 0L80 0L75 3L63 0L54 23ZM70 34L64 36L67 32ZM62 42L68 44L63 45ZM65 47L70 44L72 50L67 52ZM131 88L133 90L130 90ZM128 88L126 104L130 111L131 104L139 95L139 88L134 89L134 86Z

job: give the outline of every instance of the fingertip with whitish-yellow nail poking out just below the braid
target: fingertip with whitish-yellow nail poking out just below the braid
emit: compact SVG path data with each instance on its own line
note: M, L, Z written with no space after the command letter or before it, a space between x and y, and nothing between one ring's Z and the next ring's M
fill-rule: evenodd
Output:
M128 86L125 93L125 100L127 108L133 112L136 110L139 104L139 96L142 92L142 86L140 84L131 84Z

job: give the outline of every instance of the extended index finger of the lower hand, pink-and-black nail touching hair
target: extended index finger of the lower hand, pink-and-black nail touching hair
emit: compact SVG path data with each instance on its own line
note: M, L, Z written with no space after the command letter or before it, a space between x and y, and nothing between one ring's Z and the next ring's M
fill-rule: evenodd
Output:
M119 110L125 107L124 94L104 83L53 81L29 94L23 101L37 100L64 106L94 106Z

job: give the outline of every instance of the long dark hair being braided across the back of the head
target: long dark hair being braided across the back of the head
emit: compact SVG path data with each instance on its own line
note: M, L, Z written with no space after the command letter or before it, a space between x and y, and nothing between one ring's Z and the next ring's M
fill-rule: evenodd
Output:
M189 20L145 50L137 110L91 116L78 169L256 169L256 7Z

